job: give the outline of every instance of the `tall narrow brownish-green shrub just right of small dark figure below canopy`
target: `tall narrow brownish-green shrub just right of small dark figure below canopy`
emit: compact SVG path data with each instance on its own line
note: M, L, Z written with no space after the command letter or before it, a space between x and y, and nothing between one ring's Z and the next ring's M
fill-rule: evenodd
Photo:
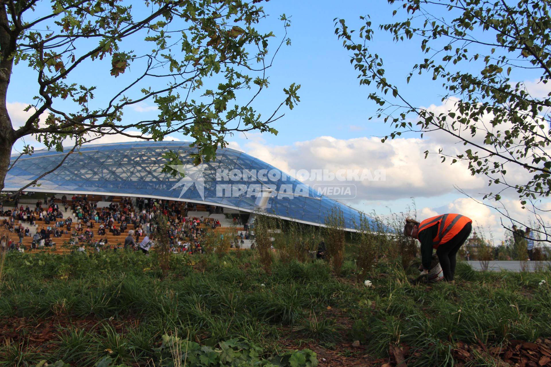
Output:
M333 267L336 275L341 274L341 267L344 259L345 227L342 210L334 206L331 212L325 217L325 233L327 237L327 254L329 264Z

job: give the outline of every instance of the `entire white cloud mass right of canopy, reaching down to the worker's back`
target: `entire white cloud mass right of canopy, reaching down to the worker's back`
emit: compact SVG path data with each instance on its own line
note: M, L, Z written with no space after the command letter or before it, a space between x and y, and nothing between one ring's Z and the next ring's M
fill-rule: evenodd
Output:
M244 144L237 144L239 150L245 151L285 172L298 172L327 169L336 173L339 169L368 169L374 172L382 169L386 172L386 180L363 180L354 182L357 188L355 199L339 199L354 207L372 209L371 205L382 209L395 200L408 200L411 197L418 202L437 201L441 198L450 201L440 206L426 206L418 210L418 218L424 219L444 213L461 213L472 218L474 226L479 226L494 234L496 240L505 237L511 222L496 210L484 204L464 197L456 187L466 191L474 198L482 198L479 193L495 190L488 188L487 178L471 176L466 163L453 165L441 163L440 157L429 155L424 159L424 151L435 150L440 146L437 139L398 138L382 144L379 138L337 139L332 136L320 136L306 141L298 141L290 145L267 144L260 136L255 136ZM526 173L520 172L520 179L526 179ZM508 172L507 176L514 172ZM299 178L300 179L300 178ZM516 178L515 178L516 179ZM303 180L314 187L320 180ZM534 215L521 209L516 192L510 196L502 195L501 203L507 208L512 218L528 225ZM422 200L421 200L422 199ZM366 207L369 203L369 207ZM496 204L489 202L488 204ZM497 204L499 205L499 204ZM551 203L541 204L542 210L550 210ZM551 215L543 215L545 223L551 222Z

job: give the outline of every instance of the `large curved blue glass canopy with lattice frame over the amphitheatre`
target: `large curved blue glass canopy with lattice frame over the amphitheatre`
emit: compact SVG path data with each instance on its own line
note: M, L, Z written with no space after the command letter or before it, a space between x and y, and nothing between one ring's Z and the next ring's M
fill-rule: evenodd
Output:
M359 211L319 194L244 152L219 148L216 160L195 167L190 154L197 149L189 144L141 141L85 145L80 153L69 155L60 168L40 179L40 186L28 190L181 200L247 212L258 211L260 206L278 217L318 226L337 206L343 211L345 227L353 229L359 223ZM163 154L169 150L180 153L185 165L174 168L185 172L185 177L163 172L167 163ZM55 168L65 155L41 150L30 157L20 157L17 162L17 156L13 156L11 163L15 164L8 171L4 191L19 190ZM371 221L369 217L368 220Z

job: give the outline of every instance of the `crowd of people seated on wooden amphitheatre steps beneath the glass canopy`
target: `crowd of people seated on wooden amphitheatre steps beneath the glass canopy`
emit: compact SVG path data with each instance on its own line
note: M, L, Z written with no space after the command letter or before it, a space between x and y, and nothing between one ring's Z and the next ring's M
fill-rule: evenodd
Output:
M206 240L208 227L214 229L221 226L220 221L213 218L188 216L188 211L196 211L197 205L187 202L152 198L121 198L120 201L113 202L112 198L104 197L101 198L102 201L110 202L110 204L99 208L98 201L88 200L86 195L73 195L69 200L66 195L63 195L61 206L65 211L73 212L75 218L73 222L72 216L63 218L63 212L55 199L55 195L52 195L45 199L47 204L37 200L36 207L33 209L30 209L28 205L26 207L21 205L7 212L3 212L3 207L0 205L0 213L9 217L9 219L4 219L2 224L10 232L17 233L18 236L33 236L31 249L51 246L55 244L56 238L70 234L69 244L77 245L81 250L88 245L101 251L117 247L116 244L109 243L108 238L112 237L107 235L108 233L114 236L127 233L124 248L143 250L145 246L143 241L145 239L150 241L149 238L153 238L156 232L158 226L156 217L163 215L168 218L168 233L166 235L169 238L171 251L190 254L204 252L203 243ZM207 205L206 211L220 213L223 212L223 208ZM36 221L43 224L37 227L36 233L33 235L24 224L28 223L33 226ZM236 221L238 220L234 218L234 223ZM128 231L129 227L133 229ZM245 234L241 232L231 246L239 247L240 243L244 243L244 239L249 238L248 230L249 228L245 229ZM131 245L128 244L130 242L128 238L133 239ZM22 242L20 239L21 246ZM153 243L151 241L150 245Z

